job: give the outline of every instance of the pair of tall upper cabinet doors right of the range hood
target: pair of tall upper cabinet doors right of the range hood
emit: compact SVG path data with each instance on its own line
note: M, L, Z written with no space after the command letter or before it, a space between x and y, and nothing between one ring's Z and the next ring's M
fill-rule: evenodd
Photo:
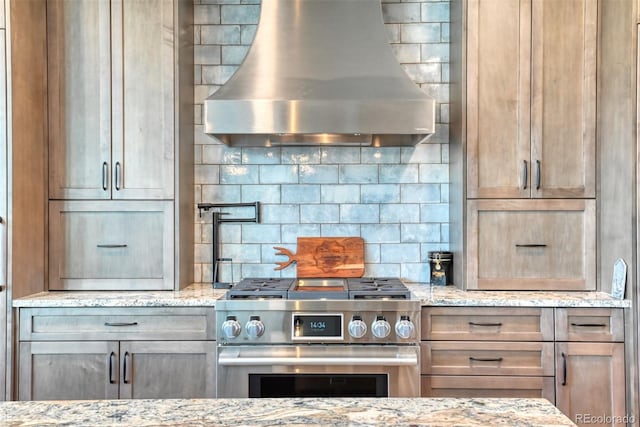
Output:
M469 198L595 197L597 0L469 0Z

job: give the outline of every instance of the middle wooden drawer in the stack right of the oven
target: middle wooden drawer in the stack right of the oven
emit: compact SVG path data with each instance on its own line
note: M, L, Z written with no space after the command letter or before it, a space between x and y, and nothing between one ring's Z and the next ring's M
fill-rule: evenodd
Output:
M434 341L421 345L422 373L553 376L552 342Z

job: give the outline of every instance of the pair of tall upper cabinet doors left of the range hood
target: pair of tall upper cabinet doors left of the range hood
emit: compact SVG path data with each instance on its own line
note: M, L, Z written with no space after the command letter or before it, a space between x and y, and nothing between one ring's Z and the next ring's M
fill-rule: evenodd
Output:
M173 2L47 6L49 197L171 199Z

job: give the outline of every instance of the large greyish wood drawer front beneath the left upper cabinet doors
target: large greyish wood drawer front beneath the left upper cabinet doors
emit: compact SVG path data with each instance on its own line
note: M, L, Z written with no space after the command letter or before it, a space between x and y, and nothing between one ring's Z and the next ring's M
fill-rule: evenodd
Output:
M49 204L49 289L173 289L172 202Z

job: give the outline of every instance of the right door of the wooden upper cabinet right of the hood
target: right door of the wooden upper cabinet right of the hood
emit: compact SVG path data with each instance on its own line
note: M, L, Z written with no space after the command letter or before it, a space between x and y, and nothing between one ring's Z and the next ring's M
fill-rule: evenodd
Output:
M532 195L595 197L597 0L533 1Z

